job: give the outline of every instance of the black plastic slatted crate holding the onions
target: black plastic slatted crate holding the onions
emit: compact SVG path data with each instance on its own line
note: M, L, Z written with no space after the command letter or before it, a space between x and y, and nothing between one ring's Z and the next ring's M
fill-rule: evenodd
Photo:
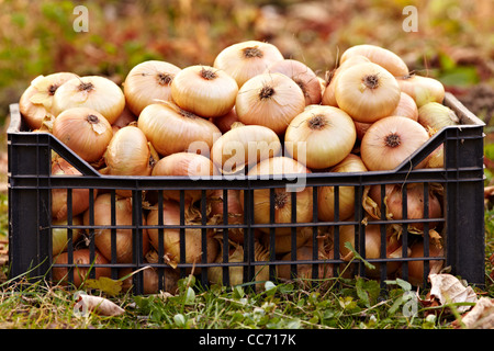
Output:
M8 152L9 152L9 259L10 275L16 278L27 275L30 279L40 279L46 276L53 278L53 270L59 268L68 269L68 280L74 281L77 269L87 268L87 276L96 278L97 269L105 269L105 274L117 279L122 276L123 269L128 272L137 271L132 279L134 292L137 294L146 293L144 286L145 267L151 267L157 272L157 290L164 290L167 282L173 282L176 276L186 276L193 270L202 284L207 285L211 282L211 268L220 268L223 275L222 282L229 284L229 268L240 268L242 282L248 283L259 280L259 270L265 269L262 275L270 280L279 278L279 270L283 268L296 276L297 267L310 264L312 273L305 278L318 278L318 270L328 269L333 275L345 271L351 275L369 275L383 282L385 279L400 276L408 280L408 264L413 262L424 263L424 274L419 282L415 284L427 284L429 267L433 262L440 261L442 267L450 267L451 273L461 275L469 283L484 284L484 202L483 202L483 127L484 123L469 112L451 94L447 93L445 102L451 107L461 120L461 125L450 126L441 129L420 147L409 160L403 162L393 171L369 171L363 173L310 173L304 177L304 184L312 191L312 220L297 223L296 211L292 211L291 223L274 223L274 195L276 189L300 185L300 179L293 177L274 177L272 179L235 177L234 179L211 177L202 179L189 179L187 177L115 177L103 176L94 168L80 159L64 144L58 141L53 135L47 133L29 132L22 121L16 104L11 105L11 124L8 129ZM437 147L444 145L445 166L437 169L414 169ZM53 176L50 174L52 155L56 152L65 160L75 166L83 176ZM355 240L352 246L356 251L366 258L366 228L368 226L368 213L362 206L362 199L369 186L381 186L381 200L384 196L384 186L386 184L424 184L424 193L437 184L440 184L444 192L440 197L442 215L437 218L411 219L411 218L386 218L384 212L381 216L373 218L375 225L380 225L381 239L385 238L385 226L394 225L401 230L401 240L403 249L401 257L390 258L385 256L386 244L381 240L381 254L379 258L366 259L375 267L371 274L366 269L364 262L355 259L350 265L340 256L339 250L335 249L327 257L321 258L317 252L317 244L322 236L326 234L326 242L339 247L340 231L343 226L352 226ZM322 186L334 186L335 194L338 194L344 188L351 186L355 191L355 215L351 220L341 220L339 218L338 195L335 196L335 218L323 222L318 219L317 194ZM66 224L55 224L52 219L52 191L55 189L67 190L68 216ZM89 223L76 223L76 216L72 216L71 199L75 191L88 189L89 196ZM269 189L270 191L270 220L267 224L256 223L254 219L252 196L256 191ZM406 186L403 191L403 199L406 199ZM180 199L177 202L180 206L180 216L178 223L165 224L164 216L158 215L157 225L149 225L146 220L153 208L158 214L164 210L164 190L178 190ZM198 220L193 224L186 220L186 191L200 190L201 199L195 203L195 214ZM227 196L227 190L242 191L244 194L244 216L242 220L234 222L228 215L215 217L215 222L207 219L210 205L210 192L218 190L224 197ZM125 227L116 225L115 200L120 191L128 191L132 199L132 220ZM94 197L97 193L108 193L111 197L111 223L105 225L94 224ZM295 196L297 192L289 192L288 196L292 200L292 210L295 210ZM427 199L427 196L425 196ZM407 213L406 201L403 202L403 213ZM224 213L228 207L227 202L222 203ZM425 213L428 213L428 201L424 202ZM433 224L438 224L442 237L444 252L440 256L430 256L429 236L420 236L408 230L408 225L422 223L424 230L428 233ZM306 234L306 246L308 247L308 257L297 258L296 250L288 252L277 252L277 240L274 230L285 228L288 230L288 244L295 247L299 229L304 228ZM54 263L52 231L65 229L67 231L67 254L68 262L65 264ZM82 229L85 233L82 239L76 240L75 233ZM125 263L117 262L116 230L127 229L132 237L132 259ZM170 257L164 251L164 231L176 230L180 238L180 261L171 263ZM197 229L200 235L200 245L202 257L194 263L184 262L186 256L186 230ZM263 234L259 234L263 229ZM99 230L110 230L111 237L111 257L104 263L94 262L97 247L94 237ZM143 236L146 237L149 230L158 233L158 248L153 249L154 256L143 253ZM243 252L240 261L229 262L228 252L232 249L228 239L228 233L240 231L243 234ZM302 229L301 229L302 230ZM216 236L216 245L207 246L209 237L212 233ZM261 261L256 260L258 252L258 241L262 237L266 256ZM422 240L422 241L420 241ZM186 241L186 246L183 242ZM409 257L408 247L420 241L424 245L424 254ZM311 246L312 244L312 246ZM74 262L74 252L77 248L83 247L90 252L90 262L80 264ZM151 247L153 248L153 247ZM207 250L217 250L217 262L206 260ZM221 253L223 252L223 254ZM148 252L149 253L149 252ZM153 259L150 259L153 258ZM397 267L397 273L391 274L390 264ZM172 267L172 268L171 268ZM282 268L283 267L283 268ZM165 274L162 274L165 273ZM398 274L398 275L396 275ZM169 281L167 281L169 279ZM384 283L382 283L384 285Z

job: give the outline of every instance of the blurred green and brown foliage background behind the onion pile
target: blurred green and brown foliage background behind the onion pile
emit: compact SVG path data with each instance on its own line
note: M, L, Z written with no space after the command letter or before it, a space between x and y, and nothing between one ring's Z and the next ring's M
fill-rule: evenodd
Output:
M76 32L76 5L89 31ZM406 5L417 32L403 30ZM440 79L487 123L493 111L492 0L0 0L0 113L38 75L74 71L122 82L147 59L212 65L227 45L267 41L324 77L338 55L361 43L401 55L409 68Z

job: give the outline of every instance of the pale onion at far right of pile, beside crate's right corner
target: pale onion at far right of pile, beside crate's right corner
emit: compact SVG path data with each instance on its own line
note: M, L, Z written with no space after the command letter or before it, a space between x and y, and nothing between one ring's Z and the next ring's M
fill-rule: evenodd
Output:
M428 102L418 109L418 123L426 129L438 132L446 126L458 125L460 118L450 107L439 102Z

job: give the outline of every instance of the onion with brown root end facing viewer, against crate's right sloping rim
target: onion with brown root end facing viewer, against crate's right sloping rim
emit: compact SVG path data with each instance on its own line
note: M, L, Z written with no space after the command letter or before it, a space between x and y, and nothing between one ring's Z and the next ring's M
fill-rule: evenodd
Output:
M418 122L403 116L389 116L374 122L367 131L361 140L360 154L368 170L392 170L428 139L428 133ZM416 168L426 165L427 159Z

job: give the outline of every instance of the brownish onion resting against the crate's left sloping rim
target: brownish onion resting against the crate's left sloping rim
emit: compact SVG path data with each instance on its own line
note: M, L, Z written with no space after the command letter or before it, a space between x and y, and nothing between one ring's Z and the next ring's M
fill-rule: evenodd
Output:
M72 107L56 117L53 135L83 160L96 162L103 157L113 129L101 113L87 107Z

